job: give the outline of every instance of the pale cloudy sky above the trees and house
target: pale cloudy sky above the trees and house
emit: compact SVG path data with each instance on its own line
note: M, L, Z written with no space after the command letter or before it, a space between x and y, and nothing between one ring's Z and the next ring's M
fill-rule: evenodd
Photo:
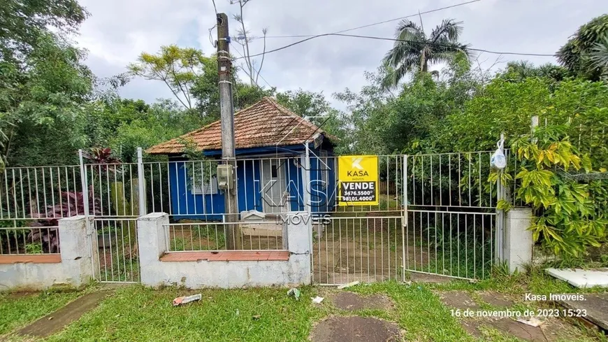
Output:
M244 8L245 26L253 36L323 34L382 22L419 12L452 6L469 0L250 0ZM157 52L161 45L177 44L215 52L209 29L215 25L212 0L80 0L91 16L82 24L78 45L88 50L85 63L96 76L105 78L126 71L141 52ZM215 0L217 12L226 13L231 34L240 23L232 19L238 4ZM606 0L481 0L433 13L410 17L422 20L427 34L443 19L463 22L461 42L472 48L500 52L553 54L581 24L608 13ZM398 20L347 32L366 36L393 38ZM215 41L216 31L212 31ZM294 43L302 38L268 38L266 50ZM269 53L261 69L259 85L277 87L278 91L302 88L331 94L346 87L358 91L366 84L363 73L375 71L391 41L325 36ZM232 44L234 50L240 45ZM252 55L262 52L263 41L249 45ZM241 50L239 52L243 53ZM238 53L233 51L238 57ZM535 64L556 62L553 57L521 57L482 53L482 68L490 67L500 57L504 66L509 60L528 59ZM256 57L258 62L261 57ZM439 69L431 66L430 69ZM240 74L245 79L244 73ZM120 89L122 97L172 99L173 94L161 81L133 79ZM331 99L333 104L336 101Z

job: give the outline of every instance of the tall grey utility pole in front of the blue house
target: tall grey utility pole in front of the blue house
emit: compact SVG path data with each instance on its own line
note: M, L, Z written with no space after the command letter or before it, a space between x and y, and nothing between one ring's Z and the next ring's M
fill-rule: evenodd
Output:
M222 165L218 166L218 179L224 189L224 222L238 222L238 202L236 199L236 153L234 146L234 107L231 83L232 61L230 57L230 34L228 16L217 14L217 73L219 74L219 114L222 126ZM220 169L223 168L223 171ZM222 177L223 176L223 177ZM241 248L238 225L224 225L226 248Z

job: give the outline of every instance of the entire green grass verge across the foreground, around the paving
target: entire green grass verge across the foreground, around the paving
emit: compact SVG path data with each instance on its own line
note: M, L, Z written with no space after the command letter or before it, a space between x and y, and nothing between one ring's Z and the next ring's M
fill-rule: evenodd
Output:
M164 287L152 290L140 285L120 287L94 311L78 322L45 339L60 341L307 341L315 322L328 315L361 315L396 322L405 334L405 341L519 341L512 336L483 327L482 338L465 332L450 308L444 306L439 292L465 291L485 310L495 310L479 302L479 293L495 291L519 301L512 309L539 308L545 304L522 302L523 294L559 292L598 292L579 290L563 281L545 275L541 269L530 269L527 275L507 276L500 268L493 277L477 283L454 281L443 284L414 283L404 285L393 281L358 285L348 290L361 294L385 294L393 300L389 310L340 311L326 299L321 305L311 304L310 297L331 297L337 290L328 287L301 287L301 300L287 297L285 288L251 288L238 290L185 290ZM203 299L174 307L178 296L201 292ZM78 296L77 293L44 293L26 297L0 297L0 332L20 327ZM41 301L43 302L41 304ZM561 320L560 320L561 322ZM607 341L597 332L570 326L558 341ZM15 336L14 341L21 341ZM0 338L1 339L1 338ZM13 340L11 340L13 341Z

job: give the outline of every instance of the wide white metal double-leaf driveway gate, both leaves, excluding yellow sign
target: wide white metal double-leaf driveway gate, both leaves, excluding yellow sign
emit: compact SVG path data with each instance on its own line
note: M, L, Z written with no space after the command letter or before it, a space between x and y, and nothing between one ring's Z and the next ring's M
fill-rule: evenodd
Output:
M491 154L379 156L379 205L335 206L314 225L314 283L403 281L406 272L488 277L501 227ZM335 158L327 164L337 170Z

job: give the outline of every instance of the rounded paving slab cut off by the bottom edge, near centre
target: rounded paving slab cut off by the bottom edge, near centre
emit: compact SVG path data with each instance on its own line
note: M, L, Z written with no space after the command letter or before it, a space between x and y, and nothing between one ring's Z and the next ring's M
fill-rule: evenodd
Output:
M310 335L312 342L403 341L395 323L372 317L332 316L319 322Z

